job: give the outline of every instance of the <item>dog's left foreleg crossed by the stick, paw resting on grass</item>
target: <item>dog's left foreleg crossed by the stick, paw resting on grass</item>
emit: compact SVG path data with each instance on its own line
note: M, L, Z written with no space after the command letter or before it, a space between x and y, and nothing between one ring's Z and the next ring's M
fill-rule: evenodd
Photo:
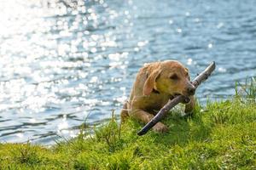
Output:
M147 111L143 111L143 110L140 110L140 109L136 109L134 111L131 111L130 115L132 117L134 117L135 119L137 119L141 122L144 122L144 123L148 123L154 117L154 115L148 113ZM162 122L158 122L154 125L153 130L155 132L165 133L165 132L168 131L168 127L166 127L166 125L163 124Z

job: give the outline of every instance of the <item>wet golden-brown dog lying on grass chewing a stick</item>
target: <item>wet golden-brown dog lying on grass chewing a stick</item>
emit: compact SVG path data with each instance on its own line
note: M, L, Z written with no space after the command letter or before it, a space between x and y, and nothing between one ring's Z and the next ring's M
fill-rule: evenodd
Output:
M192 114L195 108L194 94L195 87L190 82L189 70L177 60L146 64L138 71L130 99L123 106L121 123L129 116L148 123L169 99L177 95L189 97L184 112ZM168 131L162 122L156 123L153 129L160 133Z

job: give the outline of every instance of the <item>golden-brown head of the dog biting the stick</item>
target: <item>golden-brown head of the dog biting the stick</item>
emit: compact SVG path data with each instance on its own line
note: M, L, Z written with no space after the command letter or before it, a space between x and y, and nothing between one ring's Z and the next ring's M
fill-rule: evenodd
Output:
M160 62L150 68L143 94L148 95L153 89L172 96L195 94L195 87L189 79L189 70L175 60Z

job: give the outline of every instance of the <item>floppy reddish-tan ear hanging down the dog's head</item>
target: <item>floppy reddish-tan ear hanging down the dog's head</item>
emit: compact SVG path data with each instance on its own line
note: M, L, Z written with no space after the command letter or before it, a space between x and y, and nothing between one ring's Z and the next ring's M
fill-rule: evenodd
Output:
M151 74L149 74L146 82L144 83L144 87L143 87L144 95L149 95L153 91L154 82L156 81L156 79L158 77L160 77L160 70L155 70Z

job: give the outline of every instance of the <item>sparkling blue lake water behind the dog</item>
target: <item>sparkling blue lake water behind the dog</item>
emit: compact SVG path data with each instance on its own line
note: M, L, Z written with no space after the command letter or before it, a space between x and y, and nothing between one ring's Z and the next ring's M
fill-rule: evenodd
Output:
M119 114L138 69L177 59L226 99L256 76L256 1L0 2L0 141L54 144Z

